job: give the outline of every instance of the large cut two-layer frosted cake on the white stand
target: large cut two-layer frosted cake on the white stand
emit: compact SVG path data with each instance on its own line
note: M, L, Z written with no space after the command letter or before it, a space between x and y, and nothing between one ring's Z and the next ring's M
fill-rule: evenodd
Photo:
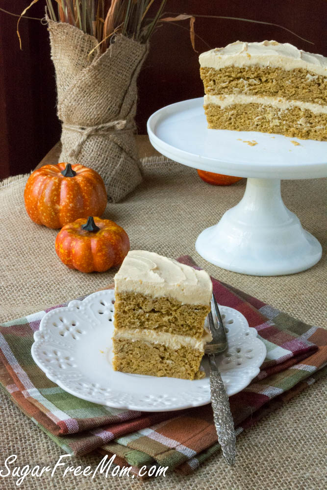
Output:
M208 127L327 141L327 58L276 41L200 55Z

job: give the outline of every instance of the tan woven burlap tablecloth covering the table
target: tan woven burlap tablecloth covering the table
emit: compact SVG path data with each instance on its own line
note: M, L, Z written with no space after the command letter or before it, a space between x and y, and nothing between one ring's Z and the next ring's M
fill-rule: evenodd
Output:
M254 277L208 264L195 251L196 237L218 221L243 195L245 180L230 187L202 182L194 169L153 159L143 161L144 182L122 203L110 203L105 218L117 221L132 249L148 249L170 257L191 254L210 274L314 325L325 326L326 268L323 259L299 274ZM0 321L17 318L52 304L91 293L111 282L116 270L82 274L60 263L54 251L55 230L32 223L24 209L27 177L0 184ZM323 243L326 230L326 181L282 182L286 206ZM53 466L62 451L15 407L1 390L1 461L16 454L17 466ZM193 475L169 474L140 482L127 477L97 475L65 479L58 471L27 477L28 490L86 489L224 489L313 490L327 486L324 425L326 383L317 384L274 414L262 419L237 440L237 464L214 456ZM73 466L95 467L99 456L70 458ZM0 488L14 489L15 479L0 478Z

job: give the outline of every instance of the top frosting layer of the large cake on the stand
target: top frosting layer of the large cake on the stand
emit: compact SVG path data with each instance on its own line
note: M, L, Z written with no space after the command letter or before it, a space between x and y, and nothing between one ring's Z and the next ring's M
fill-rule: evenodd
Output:
M298 49L289 43L262 41L261 43L228 44L225 48L210 49L200 54L200 66L206 68L226 68L260 65L281 67L284 70L303 68L318 75L327 75L327 58Z

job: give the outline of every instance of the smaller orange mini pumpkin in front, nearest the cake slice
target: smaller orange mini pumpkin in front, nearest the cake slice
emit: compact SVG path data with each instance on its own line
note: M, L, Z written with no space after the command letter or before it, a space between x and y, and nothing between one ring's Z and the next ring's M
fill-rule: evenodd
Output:
M89 216L66 224L55 240L60 260L81 272L104 272L119 266L129 250L126 231L114 221Z

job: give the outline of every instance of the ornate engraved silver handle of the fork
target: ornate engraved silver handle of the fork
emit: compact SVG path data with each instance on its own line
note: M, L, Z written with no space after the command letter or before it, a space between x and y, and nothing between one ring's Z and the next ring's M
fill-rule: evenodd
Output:
M213 420L218 435L218 441L223 450L224 458L228 465L234 465L236 453L236 437L234 421L230 412L228 396L220 372L216 367L213 355L210 360L210 392ZM213 364L214 363L214 364Z

